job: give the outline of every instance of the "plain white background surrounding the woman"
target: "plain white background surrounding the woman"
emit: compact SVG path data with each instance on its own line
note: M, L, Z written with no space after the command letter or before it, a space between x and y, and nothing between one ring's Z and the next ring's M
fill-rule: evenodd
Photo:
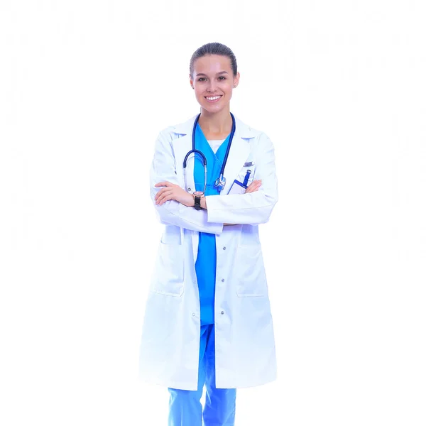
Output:
M280 196L278 380L237 391L236 426L424 426L425 40L420 0L1 0L1 425L167 424L137 377L148 168L219 41Z

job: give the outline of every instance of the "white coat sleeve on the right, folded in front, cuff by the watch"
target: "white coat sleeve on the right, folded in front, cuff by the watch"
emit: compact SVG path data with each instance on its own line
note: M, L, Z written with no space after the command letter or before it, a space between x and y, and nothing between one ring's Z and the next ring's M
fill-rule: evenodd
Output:
M261 133L256 146L256 175L261 187L249 194L207 196L207 222L258 225L268 222L278 202L275 153L271 139Z

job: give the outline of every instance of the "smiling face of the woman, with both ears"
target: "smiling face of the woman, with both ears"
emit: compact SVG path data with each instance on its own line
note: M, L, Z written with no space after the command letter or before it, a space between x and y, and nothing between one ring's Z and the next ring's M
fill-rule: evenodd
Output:
M204 55L194 62L190 84L201 107L211 113L229 109L232 89L239 82L239 72L232 74L231 60L222 55Z

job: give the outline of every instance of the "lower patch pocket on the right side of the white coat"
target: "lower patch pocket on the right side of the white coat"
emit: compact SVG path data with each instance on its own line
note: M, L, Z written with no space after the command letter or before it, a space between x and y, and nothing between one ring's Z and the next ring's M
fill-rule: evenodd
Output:
M238 246L235 269L238 297L266 296L266 273L260 244Z

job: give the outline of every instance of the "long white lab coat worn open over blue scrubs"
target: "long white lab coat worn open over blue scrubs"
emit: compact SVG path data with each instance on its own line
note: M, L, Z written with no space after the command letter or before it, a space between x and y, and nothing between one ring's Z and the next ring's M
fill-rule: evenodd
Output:
M185 188L183 160L192 149L196 116L158 135L151 165L151 198L168 180ZM216 234L214 300L217 388L246 388L276 378L275 341L258 225L278 201L271 140L236 118L221 195L206 197L207 209L170 200L155 205L165 224L146 302L139 378L195 391L200 351L200 298L195 274L199 231ZM193 192L194 161L187 163L186 190ZM244 166L254 162L254 165ZM257 192L227 195L234 179L261 179ZM224 226L224 223L235 224Z

